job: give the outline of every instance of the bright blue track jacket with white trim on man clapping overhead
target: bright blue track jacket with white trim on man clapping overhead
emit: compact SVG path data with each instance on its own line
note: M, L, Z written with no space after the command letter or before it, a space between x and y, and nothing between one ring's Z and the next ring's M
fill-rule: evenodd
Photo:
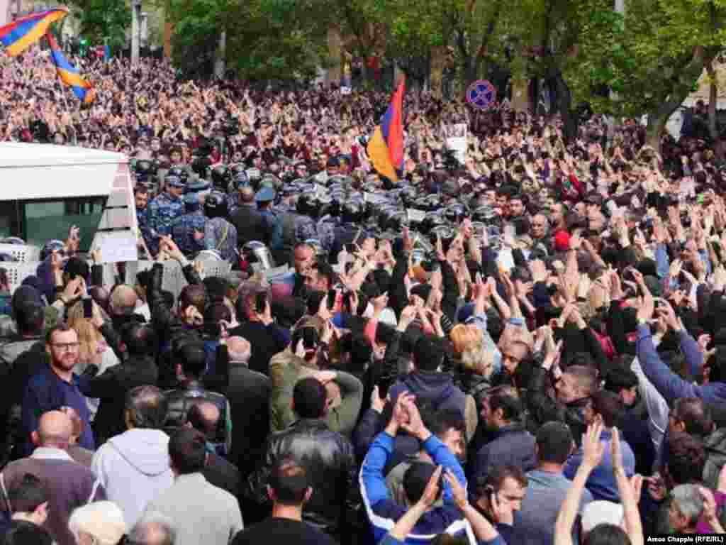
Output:
M426 453L431 456L433 463L451 469L464 487L466 477L456 456L449 448L433 435L423 443ZM396 525L396 522L407 512L406 506L396 504L388 496L386 476L383 468L386 467L388 457L393 453L393 437L386 432L379 433L370 445L370 450L363 461L360 472L360 486L363 504L372 525L375 543L378 543L386 533ZM451 485L444 481L444 504L426 512L409 533L407 545L420 545L428 543L440 533L460 535L466 531L466 521L462 512L454 504Z

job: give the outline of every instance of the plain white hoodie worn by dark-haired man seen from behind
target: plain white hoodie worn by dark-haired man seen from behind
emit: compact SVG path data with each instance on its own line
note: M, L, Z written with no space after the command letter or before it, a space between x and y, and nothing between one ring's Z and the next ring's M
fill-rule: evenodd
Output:
M169 436L159 429L129 429L98 449L91 469L110 501L133 528L146 505L174 483L169 467Z

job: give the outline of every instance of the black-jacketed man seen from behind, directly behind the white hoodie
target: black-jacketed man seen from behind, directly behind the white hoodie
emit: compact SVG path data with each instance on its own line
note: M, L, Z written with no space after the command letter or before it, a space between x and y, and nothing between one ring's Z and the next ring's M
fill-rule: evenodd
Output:
M98 445L125 431L126 392L137 386L153 386L158 380L155 331L150 326L130 321L121 328L121 343L126 353L124 363L107 368L100 375L97 366L88 366L79 384L83 395L101 400L93 425Z

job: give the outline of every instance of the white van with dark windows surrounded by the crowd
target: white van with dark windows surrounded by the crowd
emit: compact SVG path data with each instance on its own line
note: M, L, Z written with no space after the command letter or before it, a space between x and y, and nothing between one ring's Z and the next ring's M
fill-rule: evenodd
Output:
M0 184L0 238L43 246L49 239L65 240L76 225L81 251L91 243L113 246L103 243L108 238L136 240L134 182L122 153L0 142Z

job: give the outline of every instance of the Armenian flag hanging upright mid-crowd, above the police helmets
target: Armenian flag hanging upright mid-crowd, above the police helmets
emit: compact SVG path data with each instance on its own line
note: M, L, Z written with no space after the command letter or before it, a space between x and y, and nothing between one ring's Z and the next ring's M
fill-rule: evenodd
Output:
M404 92L405 81L401 80L399 88L393 94L386 115L375 127L373 136L368 142L367 153L378 174L397 182L396 169L404 164Z

